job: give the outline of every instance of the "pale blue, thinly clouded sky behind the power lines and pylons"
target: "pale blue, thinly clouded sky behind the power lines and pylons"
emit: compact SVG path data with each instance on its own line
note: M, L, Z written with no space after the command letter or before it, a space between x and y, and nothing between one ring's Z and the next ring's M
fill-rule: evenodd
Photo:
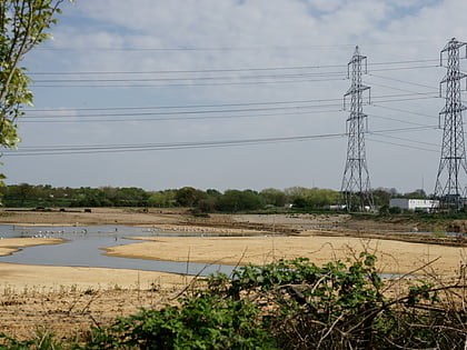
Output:
M467 1L77 0L62 11L21 62L34 106L18 151L3 150L7 183L339 190L358 46L371 187L434 191L439 57L467 41Z

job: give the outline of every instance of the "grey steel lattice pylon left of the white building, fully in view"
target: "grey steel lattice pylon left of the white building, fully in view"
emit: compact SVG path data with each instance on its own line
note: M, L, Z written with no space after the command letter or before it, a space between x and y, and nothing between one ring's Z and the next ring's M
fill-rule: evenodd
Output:
M362 112L362 104L364 91L369 91L369 87L361 83L364 63L366 73L367 58L361 56L358 47L356 47L355 53L348 63L348 78L351 74L351 86L344 96L344 104L346 98L350 96L350 116L347 119L347 161L341 187L342 199L348 211L364 211L366 207L372 207L365 151L365 120L367 116Z

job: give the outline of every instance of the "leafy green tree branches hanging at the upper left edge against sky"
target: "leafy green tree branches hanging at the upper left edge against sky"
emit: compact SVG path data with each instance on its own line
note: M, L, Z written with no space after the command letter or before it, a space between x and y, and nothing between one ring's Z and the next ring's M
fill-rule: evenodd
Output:
M57 22L64 0L0 1L0 146L14 148L20 141L17 118L21 107L32 104L31 81L27 69L19 67L24 54L43 42ZM68 0L72 2L73 0ZM4 177L1 174L1 178Z

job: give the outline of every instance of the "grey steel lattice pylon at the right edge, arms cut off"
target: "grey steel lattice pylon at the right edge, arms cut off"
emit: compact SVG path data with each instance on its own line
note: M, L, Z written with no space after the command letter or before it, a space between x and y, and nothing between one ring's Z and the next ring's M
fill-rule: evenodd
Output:
M460 96L460 80L467 76L460 72L459 49L466 46L456 39L449 40L440 53L447 54L447 73L439 86L441 96L443 84L446 84L446 104L439 112L439 126L444 116L444 131L441 158L436 178L435 197L439 199L441 209L458 210L464 206L467 179L466 149L464 142L463 104Z

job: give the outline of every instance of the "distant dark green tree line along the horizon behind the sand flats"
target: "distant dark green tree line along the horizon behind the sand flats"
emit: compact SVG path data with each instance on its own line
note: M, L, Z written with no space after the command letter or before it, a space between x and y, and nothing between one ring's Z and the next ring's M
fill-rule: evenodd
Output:
M391 198L426 198L423 190L399 193L396 189L379 188L372 192L375 204L389 204ZM216 189L200 190L192 187L147 191L137 187L52 187L50 184L10 184L0 188L4 207L142 207L142 208L193 208L199 212L237 212L267 208L322 210L341 202L339 191L331 189L290 187L285 190L264 189L223 192Z

